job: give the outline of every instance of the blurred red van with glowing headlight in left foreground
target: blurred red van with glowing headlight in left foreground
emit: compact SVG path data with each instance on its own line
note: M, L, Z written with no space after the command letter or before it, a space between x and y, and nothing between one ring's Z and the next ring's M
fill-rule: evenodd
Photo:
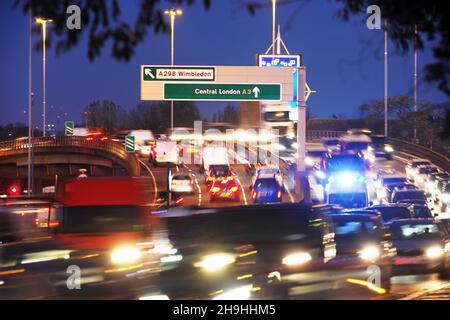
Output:
M47 235L0 245L2 297L133 298L160 263L151 194L147 178L61 180L57 202L39 217Z

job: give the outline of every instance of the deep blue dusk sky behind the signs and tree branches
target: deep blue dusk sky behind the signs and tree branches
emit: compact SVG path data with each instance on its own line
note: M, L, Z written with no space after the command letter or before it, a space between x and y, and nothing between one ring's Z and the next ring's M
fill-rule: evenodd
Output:
M263 53L271 41L271 8L251 16L240 0L213 0L205 11L201 1L185 7L177 17L175 64L254 65L255 55ZM269 2L269 1L268 1ZM12 0L0 2L0 125L26 123L28 93L28 17L11 11ZM122 1L125 17L134 23L138 1ZM165 8L165 7L164 7ZM279 6L278 23L291 53L301 53L311 88L318 90L309 100L314 117L332 114L357 116L357 107L383 97L383 32L368 30L364 18L343 22L337 16L335 1L315 0L293 16L298 4ZM287 28L288 22L292 21ZM82 26L83 27L83 26ZM50 31L51 32L51 27ZM39 41L38 36L34 38ZM149 33L129 62L111 58L106 46L100 58L89 62L83 42L59 57L47 54L47 107L68 112L65 120L80 120L81 110L93 100L112 100L125 109L139 103L139 66L169 64L170 36ZM390 49L394 50L392 43ZM358 62L360 61L360 62ZM432 61L431 50L420 52L419 66ZM389 94L412 95L412 52L392 56L389 61ZM33 53L35 107L42 110L42 55ZM435 85L421 84L419 100L445 102L448 98ZM237 104L236 104L237 105ZM53 106L53 109L52 109ZM210 117L223 104L202 103L200 111ZM52 111L53 110L53 111ZM38 117L36 121L38 124Z

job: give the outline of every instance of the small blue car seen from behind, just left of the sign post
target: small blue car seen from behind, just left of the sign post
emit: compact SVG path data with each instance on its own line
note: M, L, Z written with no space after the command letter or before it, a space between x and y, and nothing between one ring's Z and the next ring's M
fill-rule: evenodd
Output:
M283 186L274 174L261 174L252 188L253 203L281 202Z

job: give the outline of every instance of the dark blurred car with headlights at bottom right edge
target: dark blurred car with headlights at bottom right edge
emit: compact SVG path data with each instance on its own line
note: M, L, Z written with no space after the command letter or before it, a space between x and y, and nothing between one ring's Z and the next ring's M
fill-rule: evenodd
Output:
M450 235L442 222L433 219L404 219L387 224L397 257L395 275L450 272Z

